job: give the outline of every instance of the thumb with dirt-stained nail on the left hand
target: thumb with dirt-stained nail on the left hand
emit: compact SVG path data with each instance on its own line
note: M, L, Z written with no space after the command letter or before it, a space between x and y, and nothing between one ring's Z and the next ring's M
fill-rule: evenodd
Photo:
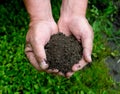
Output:
M45 62L46 61L46 54L45 54L45 49L44 46L38 43L33 43L33 51L35 54L35 57L42 69L47 69L48 64Z

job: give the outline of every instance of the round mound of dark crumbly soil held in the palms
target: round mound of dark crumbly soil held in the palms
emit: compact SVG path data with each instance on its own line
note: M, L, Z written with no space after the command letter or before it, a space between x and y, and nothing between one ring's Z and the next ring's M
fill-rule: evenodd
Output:
M58 69L64 74L72 71L72 66L78 63L82 56L82 46L76 38L62 33L53 35L45 50L48 69Z

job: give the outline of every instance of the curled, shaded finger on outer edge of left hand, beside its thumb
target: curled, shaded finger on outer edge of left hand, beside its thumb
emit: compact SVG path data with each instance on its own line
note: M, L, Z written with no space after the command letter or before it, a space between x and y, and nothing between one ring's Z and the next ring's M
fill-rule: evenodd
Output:
M37 69L37 70L41 70L36 58L35 58L35 55L33 54L33 51L31 49L31 47L27 46L25 48L25 54L27 56L27 58L29 59L30 63Z

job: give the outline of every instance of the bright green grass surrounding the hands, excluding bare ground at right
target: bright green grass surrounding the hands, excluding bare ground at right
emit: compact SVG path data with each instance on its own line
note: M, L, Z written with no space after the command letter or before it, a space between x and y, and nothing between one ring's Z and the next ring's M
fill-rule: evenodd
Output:
M52 2L56 21L60 2ZM6 1L0 5L0 94L120 94L119 90L114 89L116 83L104 63L105 57L111 55L110 48L106 46L107 40L115 39L112 27L106 14L102 14L96 6L90 8L87 18L95 34L93 62L66 79L36 71L25 57L29 17L23 2ZM103 33L107 40L103 40Z

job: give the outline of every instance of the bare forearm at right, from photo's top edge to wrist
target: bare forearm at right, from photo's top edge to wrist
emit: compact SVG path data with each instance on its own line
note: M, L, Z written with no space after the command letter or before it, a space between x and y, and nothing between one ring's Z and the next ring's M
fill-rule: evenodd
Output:
M88 0L62 0L61 15L85 16Z

